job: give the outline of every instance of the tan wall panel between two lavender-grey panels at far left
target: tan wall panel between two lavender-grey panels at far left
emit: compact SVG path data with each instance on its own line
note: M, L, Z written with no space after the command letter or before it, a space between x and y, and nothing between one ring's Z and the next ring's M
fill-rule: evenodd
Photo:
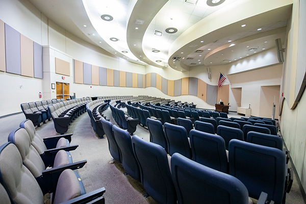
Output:
M34 77L33 40L20 34L21 75Z

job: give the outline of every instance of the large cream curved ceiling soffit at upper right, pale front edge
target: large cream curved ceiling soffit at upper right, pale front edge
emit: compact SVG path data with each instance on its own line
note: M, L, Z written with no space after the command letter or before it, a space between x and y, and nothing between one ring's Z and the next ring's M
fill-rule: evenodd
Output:
M288 1L269 1L267 6L264 0L255 2L235 2L195 23L172 43L168 55L169 66L173 69L174 67L186 69L181 67L181 62L172 63L173 57L187 57L203 45L243 32L245 27L241 27L241 24L248 24L248 28L254 29L262 26L263 20L264 24L268 24L290 18L292 4ZM243 12L242 7L245 8Z

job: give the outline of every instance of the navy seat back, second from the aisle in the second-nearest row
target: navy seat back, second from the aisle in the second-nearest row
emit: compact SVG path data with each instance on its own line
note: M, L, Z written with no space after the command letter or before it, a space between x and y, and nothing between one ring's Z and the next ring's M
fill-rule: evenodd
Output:
M164 124L165 136L168 145L168 154L173 155L175 152L191 158L191 149L188 141L185 127L170 123Z

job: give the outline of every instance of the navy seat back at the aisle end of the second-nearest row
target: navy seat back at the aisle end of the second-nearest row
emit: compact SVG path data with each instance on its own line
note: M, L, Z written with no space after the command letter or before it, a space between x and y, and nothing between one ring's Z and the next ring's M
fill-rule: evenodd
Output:
M150 142L161 145L166 151L167 148L167 140L165 137L165 133L163 130L163 124L160 120L154 120L147 118L146 119L147 127L150 133Z

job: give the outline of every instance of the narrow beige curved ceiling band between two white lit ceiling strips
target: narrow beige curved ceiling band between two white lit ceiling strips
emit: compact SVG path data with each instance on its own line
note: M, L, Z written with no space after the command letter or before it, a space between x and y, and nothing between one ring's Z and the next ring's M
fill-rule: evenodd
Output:
M148 59L142 48L142 40L150 22L167 2L168 0L138 0L133 8L126 28L126 39L129 39L127 40L127 45L129 46L131 52L140 61L159 68L163 68L164 66ZM143 24L137 24L139 20L143 20ZM135 29L136 27L138 29Z

